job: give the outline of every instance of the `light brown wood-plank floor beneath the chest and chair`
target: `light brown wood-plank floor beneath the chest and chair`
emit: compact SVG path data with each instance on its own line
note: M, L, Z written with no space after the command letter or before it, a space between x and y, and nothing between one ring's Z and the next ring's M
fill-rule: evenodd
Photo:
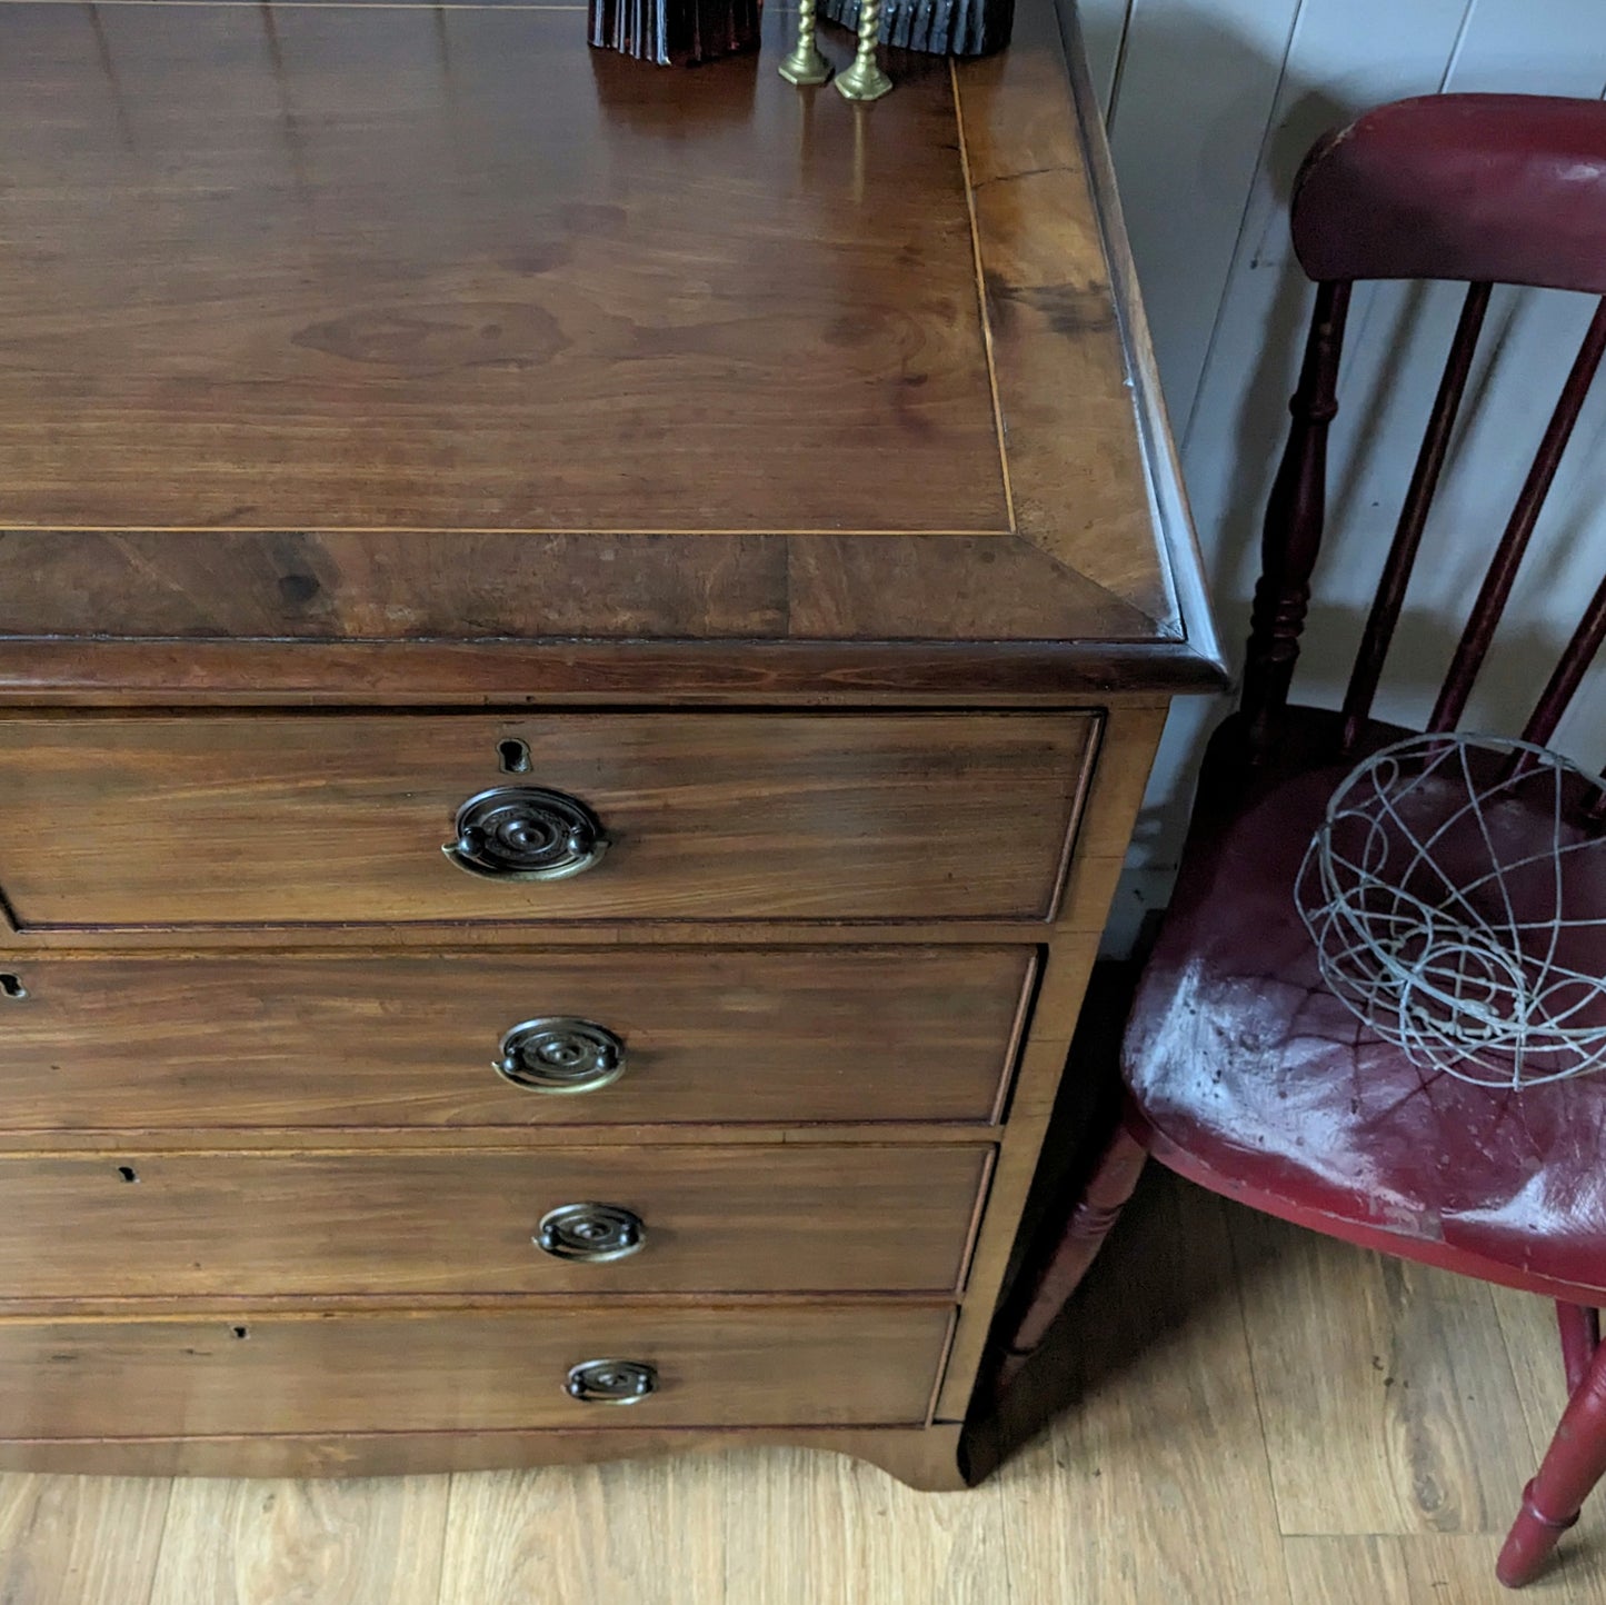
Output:
M970 1494L744 1451L371 1483L0 1478L0 1605L1476 1605L1561 1409L1548 1305L1150 1171L1084 1396ZM1606 1494L1527 1597L1606 1605Z

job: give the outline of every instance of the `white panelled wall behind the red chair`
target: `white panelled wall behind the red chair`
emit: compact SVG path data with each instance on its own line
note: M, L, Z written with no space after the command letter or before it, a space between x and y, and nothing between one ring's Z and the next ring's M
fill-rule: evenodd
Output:
M1241 662L1259 522L1310 288L1288 190L1359 111L1447 90L1606 93L1606 0L1081 0L1094 84L1221 630ZM1335 704L1392 535L1461 291L1357 289L1333 426L1328 537L1296 696ZM1389 662L1383 717L1421 721L1592 304L1498 294ZM1514 734L1606 572L1606 381L1579 423L1468 728ZM1180 704L1108 946L1164 903L1193 766L1224 702ZM1606 762L1606 665L1556 744Z

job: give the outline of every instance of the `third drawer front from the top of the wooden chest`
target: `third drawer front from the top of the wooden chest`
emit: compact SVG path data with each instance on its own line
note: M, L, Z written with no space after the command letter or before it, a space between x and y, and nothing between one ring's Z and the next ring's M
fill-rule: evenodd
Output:
M989 1155L800 1146L11 1158L0 1162L0 1290L952 1292ZM620 1256L585 1255L626 1239Z

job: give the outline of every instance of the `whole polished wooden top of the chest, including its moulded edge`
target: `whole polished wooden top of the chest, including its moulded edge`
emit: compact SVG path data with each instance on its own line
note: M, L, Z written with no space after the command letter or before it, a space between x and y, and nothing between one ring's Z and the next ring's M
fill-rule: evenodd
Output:
M1208 683L1050 0L874 108L787 27L0 5L0 694Z

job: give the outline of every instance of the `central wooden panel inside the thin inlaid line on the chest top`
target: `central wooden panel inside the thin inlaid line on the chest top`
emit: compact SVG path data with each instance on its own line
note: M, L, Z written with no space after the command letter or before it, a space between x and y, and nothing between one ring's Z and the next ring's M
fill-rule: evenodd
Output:
M943 61L856 148L570 11L0 27L14 524L1009 530Z

